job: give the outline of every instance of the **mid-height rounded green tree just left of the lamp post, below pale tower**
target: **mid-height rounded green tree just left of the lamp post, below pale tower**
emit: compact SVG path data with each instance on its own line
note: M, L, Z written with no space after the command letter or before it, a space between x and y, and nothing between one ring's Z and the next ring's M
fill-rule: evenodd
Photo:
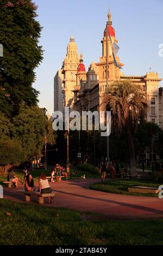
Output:
M49 123L39 107L21 106L20 114L12 118L11 122L14 126L11 137L20 141L27 160L41 155L47 132L47 143L55 142L52 123Z

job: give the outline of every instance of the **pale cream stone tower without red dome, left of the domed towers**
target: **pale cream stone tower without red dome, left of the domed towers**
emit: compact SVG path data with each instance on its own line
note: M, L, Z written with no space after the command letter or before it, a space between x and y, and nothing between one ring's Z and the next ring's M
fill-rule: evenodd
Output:
M63 101L64 107L73 106L73 89L76 86L76 74L78 70L79 56L74 37L71 36L67 45L67 53L62 65L63 78Z

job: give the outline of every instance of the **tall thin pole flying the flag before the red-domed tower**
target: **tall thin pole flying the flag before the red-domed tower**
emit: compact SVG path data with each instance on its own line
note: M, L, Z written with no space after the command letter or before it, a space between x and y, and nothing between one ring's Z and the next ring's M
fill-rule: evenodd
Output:
M109 76L108 76L108 71L109 71L109 66L108 66L108 24L109 22L106 22L106 90L109 89ZM110 161L110 152L109 152L109 136L106 137L106 163L107 167L109 166L109 161Z

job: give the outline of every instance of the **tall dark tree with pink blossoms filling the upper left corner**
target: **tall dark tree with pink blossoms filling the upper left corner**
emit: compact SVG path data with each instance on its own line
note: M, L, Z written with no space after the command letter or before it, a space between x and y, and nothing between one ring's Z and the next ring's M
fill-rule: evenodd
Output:
M35 20L36 5L31 0L2 0L0 43L0 108L15 113L20 103L35 106L39 92L32 87L35 68L42 60L38 45L41 26Z

